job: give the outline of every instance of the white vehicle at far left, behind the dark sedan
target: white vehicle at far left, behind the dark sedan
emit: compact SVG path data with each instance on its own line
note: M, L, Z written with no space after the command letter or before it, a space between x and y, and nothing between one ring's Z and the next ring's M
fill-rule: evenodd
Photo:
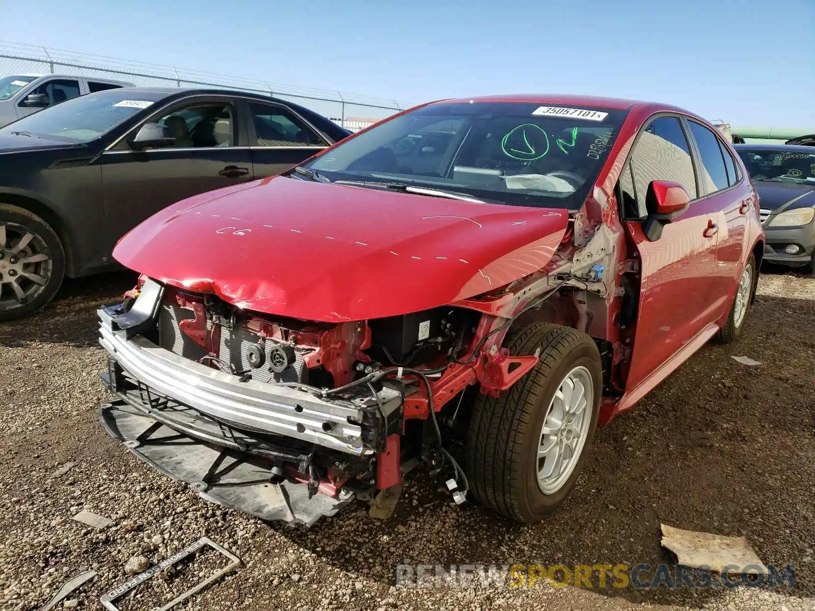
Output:
M43 108L97 91L132 87L108 78L64 74L12 74L0 78L0 127Z

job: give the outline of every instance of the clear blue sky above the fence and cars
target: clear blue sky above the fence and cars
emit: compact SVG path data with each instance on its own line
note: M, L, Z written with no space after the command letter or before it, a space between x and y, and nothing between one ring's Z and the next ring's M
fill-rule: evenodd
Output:
M653 99L734 125L815 126L813 31L813 0L0 0L4 41L407 103Z

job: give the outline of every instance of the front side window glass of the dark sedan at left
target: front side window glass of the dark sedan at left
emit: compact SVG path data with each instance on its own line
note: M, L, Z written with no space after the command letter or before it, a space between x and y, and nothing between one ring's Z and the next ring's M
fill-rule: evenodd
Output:
M231 147L234 121L228 104L196 104L178 108L157 122L173 132L175 148Z

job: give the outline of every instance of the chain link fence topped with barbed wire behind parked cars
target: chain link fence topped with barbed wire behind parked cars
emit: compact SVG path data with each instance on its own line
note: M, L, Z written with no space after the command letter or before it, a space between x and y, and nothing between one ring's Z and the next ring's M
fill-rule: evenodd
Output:
M175 66L146 64L130 59L0 41L0 77L15 74L64 74L127 81L134 86L248 91L302 104L352 131L360 130L407 108L407 104L393 99L282 85L271 81L204 73Z

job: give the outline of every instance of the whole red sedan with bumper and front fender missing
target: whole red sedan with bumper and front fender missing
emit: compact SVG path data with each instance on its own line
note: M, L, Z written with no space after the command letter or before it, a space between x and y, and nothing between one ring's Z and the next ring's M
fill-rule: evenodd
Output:
M540 521L598 424L738 337L763 242L742 162L690 112L426 104L126 235L102 419L264 519L387 516L425 463L457 502Z

